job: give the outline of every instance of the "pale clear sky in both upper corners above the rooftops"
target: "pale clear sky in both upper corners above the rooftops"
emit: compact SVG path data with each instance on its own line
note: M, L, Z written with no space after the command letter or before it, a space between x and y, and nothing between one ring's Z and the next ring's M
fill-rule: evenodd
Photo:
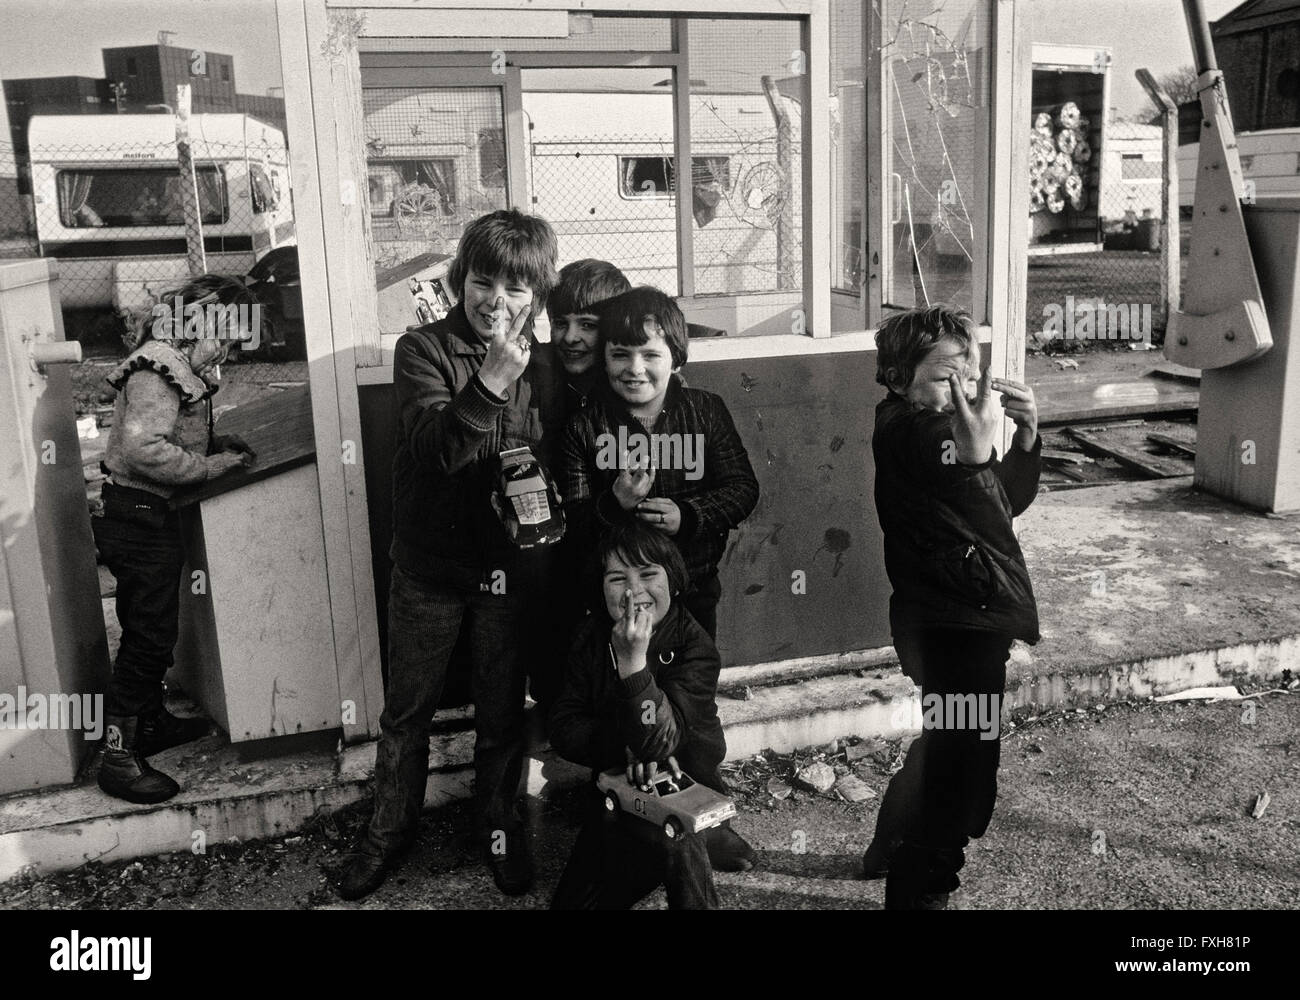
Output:
M1239 1L1204 0L1206 17ZM1035 42L1112 48L1112 104L1121 114L1145 104L1135 70L1158 77L1192 61L1180 0L1022 3ZM173 44L233 55L240 92L281 85L272 0L0 0L0 77L100 77L101 47L151 44L168 29L177 33Z

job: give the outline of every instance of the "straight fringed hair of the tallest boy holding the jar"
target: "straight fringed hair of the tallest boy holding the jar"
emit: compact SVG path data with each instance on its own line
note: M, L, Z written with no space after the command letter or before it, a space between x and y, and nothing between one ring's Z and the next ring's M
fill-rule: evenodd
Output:
M517 208L502 208L478 216L465 226L451 261L447 280L458 299L465 295L465 274L506 274L526 281L533 290L533 311L546 307L555 287L555 257L559 242L551 224L541 216L525 216Z

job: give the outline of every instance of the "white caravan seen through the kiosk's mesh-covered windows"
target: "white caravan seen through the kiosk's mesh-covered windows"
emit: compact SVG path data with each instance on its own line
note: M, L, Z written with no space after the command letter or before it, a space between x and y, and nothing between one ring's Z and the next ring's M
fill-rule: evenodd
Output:
M670 94L524 91L528 209L559 237L560 263L602 257L633 282L679 289ZM490 96L365 98L372 233L381 263L455 252L460 228L506 204L504 139ZM692 98L697 295L798 287L800 105L763 95ZM783 140L777 142L779 134ZM788 137L788 143L784 140ZM783 157L788 163L783 163ZM789 199L789 203L786 203ZM784 211L783 211L784 209Z

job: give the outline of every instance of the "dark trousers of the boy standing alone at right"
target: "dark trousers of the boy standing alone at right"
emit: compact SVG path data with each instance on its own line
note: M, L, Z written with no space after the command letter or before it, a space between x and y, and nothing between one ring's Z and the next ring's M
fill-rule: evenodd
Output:
M1000 711L1010 648L1006 636L971 629L894 636L904 674L920 685L923 709L933 704L928 696L975 694L991 714ZM1001 724L996 715L992 720ZM988 732L976 726L945 722L923 728L880 802L875 840L885 848L901 841L889 865L888 895L956 889L968 837L982 836L993 815L1000 730L982 739Z

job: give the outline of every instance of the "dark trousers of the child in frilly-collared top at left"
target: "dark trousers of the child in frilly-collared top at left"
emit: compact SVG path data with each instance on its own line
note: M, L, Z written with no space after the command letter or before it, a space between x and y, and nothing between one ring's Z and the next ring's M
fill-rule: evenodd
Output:
M91 527L100 560L117 581L122 627L104 709L109 715L150 715L162 707L162 678L172 668L179 631L181 519L161 497L105 484L104 515L91 518Z

